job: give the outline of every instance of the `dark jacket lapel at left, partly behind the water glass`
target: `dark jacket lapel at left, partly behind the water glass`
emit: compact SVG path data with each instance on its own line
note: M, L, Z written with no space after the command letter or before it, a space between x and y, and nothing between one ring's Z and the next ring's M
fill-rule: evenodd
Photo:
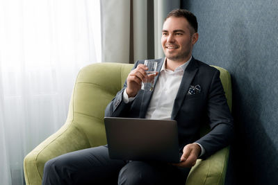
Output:
M161 73L161 67L164 62L164 58L161 58L157 61L157 71L158 75L154 78L154 88L156 87L156 81L158 80L159 74ZM152 94L154 91L143 91L142 93L142 103L140 107L140 118L145 118L147 113L147 107L149 106L149 102L152 98Z

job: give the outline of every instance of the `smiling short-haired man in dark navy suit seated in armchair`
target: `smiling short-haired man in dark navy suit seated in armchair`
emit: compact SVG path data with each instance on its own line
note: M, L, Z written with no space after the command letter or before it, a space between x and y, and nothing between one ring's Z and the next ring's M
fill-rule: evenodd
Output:
M99 146L56 157L44 166L42 184L185 184L198 157L229 145L233 118L220 82L220 72L192 57L198 40L197 19L187 10L173 10L163 24L165 58L158 62L154 91L142 91L147 78L143 61L129 73L121 91L106 107L106 116L172 118L177 121L181 162L122 161ZM208 123L211 132L199 138Z

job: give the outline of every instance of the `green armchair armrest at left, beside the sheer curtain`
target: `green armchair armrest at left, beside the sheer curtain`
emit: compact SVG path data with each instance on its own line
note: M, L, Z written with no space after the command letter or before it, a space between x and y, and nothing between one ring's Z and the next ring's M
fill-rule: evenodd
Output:
M54 157L67 152L90 148L85 134L67 121L56 133L45 139L24 158L26 184L42 184L44 164Z

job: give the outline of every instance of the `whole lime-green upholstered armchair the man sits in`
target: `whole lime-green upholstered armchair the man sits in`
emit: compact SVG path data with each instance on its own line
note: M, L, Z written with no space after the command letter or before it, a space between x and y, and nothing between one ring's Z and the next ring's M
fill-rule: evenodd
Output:
M42 184L44 164L67 152L106 144L104 110L124 81L133 64L97 63L84 67L77 76L63 127L24 158L26 184ZM231 109L231 78L220 67L220 78ZM204 128L203 134L208 128ZM229 147L206 160L198 159L186 184L224 184Z

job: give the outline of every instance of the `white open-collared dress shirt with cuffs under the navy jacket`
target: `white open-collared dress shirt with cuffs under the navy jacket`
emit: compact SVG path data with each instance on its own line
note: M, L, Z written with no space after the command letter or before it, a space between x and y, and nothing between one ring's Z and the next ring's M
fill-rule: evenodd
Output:
M192 58L192 56L191 56ZM166 69L166 58L161 67L159 78L156 81L156 86L154 88L153 96L149 107L147 109L147 114L145 118L150 119L171 119L172 109L174 106L174 98L176 98L179 86L181 85L181 79L183 73L186 70L191 58L181 66L177 67L174 71ZM123 93L124 103L129 103L134 100L134 98L129 98L126 94L126 89ZM204 148L197 143L201 149L201 155L204 154ZM200 156L201 156L200 155Z

